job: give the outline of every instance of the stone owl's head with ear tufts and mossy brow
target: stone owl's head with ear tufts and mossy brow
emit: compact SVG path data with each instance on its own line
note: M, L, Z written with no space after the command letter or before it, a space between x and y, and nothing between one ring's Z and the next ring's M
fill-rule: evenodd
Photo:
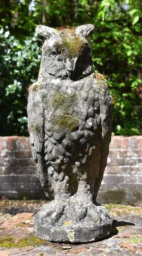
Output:
M40 77L48 75L78 80L93 72L89 38L94 32L92 24L59 30L39 25L38 34L45 38L42 46Z

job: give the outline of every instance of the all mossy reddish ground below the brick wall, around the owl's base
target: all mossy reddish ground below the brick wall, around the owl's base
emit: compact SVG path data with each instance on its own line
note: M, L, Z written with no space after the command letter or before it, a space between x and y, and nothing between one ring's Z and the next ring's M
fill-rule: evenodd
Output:
M140 204L136 206L105 204L111 217L116 220L111 237L94 243L71 245L50 243L35 236L33 213L47 202L45 200L0 200L0 256L142 255Z

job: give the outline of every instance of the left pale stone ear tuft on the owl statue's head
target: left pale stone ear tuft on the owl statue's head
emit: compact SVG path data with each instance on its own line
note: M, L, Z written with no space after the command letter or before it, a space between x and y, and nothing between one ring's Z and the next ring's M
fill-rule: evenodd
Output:
M43 25L39 25L36 28L36 32L39 35L46 37L47 39L49 39L51 35L56 36L58 34L57 30L55 30L53 28L50 28L50 27L47 27L47 26L43 26Z

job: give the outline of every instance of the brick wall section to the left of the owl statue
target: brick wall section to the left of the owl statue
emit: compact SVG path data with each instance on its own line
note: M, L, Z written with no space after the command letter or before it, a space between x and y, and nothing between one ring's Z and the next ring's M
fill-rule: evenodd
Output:
M29 137L0 137L0 197L43 196L32 159Z

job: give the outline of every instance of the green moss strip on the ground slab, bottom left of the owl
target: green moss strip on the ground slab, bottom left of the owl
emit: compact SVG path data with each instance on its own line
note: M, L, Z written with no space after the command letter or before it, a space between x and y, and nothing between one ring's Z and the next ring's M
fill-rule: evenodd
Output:
M42 240L33 235L26 238L21 238L17 243L15 243L15 238L13 237L5 236L0 238L0 247L6 247L6 248L10 248L10 247L18 248L18 247L25 247L29 245L37 246L37 245L46 244L46 243L47 241Z

